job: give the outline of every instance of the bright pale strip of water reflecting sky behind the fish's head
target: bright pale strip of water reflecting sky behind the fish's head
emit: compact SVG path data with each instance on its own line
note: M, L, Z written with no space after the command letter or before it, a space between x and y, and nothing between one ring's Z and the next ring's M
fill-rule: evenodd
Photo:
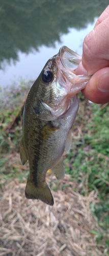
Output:
M61 43L57 42L56 48L42 46L39 48L39 52L34 51L29 54L19 51L19 60L16 63L11 60L9 65L5 63L4 70L0 70L0 86L6 87L12 83L18 84L20 79L36 80L46 61L57 54L63 45L81 55L84 37L93 29L93 26L93 24L88 25L86 29L79 32L75 29L70 29L67 35L61 36ZM74 39L72 40L72 38Z

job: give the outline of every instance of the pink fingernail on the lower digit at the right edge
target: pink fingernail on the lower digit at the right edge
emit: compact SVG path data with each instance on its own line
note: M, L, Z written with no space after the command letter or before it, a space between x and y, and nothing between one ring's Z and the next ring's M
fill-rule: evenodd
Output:
M101 75L97 83L97 88L102 93L109 92L109 73Z

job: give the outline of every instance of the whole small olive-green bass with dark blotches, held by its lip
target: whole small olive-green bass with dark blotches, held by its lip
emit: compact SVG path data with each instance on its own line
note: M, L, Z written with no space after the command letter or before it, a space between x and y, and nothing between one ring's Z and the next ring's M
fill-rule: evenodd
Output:
M30 173L25 197L39 199L53 205L53 197L46 183L51 169L56 178L63 179L64 151L72 143L72 125L78 111L77 93L86 87L90 76L76 75L81 60L74 51L63 46L51 57L30 89L22 117L20 159L29 160Z

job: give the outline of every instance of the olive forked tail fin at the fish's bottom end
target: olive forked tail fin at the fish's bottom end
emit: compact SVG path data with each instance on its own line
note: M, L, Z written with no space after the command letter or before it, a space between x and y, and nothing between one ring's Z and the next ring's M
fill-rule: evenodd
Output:
M29 180L26 183L25 196L28 199L40 199L42 202L53 205L53 197L48 185L36 186L32 181Z

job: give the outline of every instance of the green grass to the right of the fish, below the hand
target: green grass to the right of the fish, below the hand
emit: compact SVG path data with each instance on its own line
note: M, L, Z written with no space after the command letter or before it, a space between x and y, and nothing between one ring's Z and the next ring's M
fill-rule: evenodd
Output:
M81 100L72 131L72 147L65 159L66 173L81 184L81 194L96 191L99 203L90 204L90 208L99 226L106 231L109 228L109 104L102 108ZM102 236L97 236L97 243ZM109 248L106 238L105 247Z

